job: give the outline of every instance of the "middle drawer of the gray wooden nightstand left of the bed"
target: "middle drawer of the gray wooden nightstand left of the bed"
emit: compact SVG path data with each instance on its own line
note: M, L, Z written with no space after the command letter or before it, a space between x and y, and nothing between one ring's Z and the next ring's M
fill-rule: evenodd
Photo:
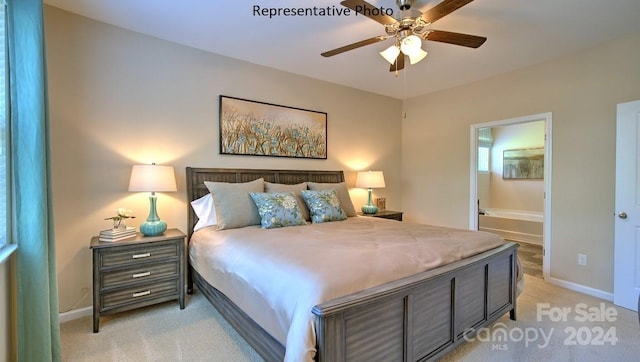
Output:
M125 270L103 272L100 275L102 289L126 285L130 283L148 282L160 278L178 276L180 263L176 260L171 263L149 264Z

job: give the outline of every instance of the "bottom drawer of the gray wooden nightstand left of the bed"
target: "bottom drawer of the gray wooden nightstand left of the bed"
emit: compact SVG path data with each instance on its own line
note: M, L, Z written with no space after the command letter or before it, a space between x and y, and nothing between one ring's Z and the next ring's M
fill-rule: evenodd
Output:
M101 312L128 304L143 303L150 299L162 298L166 296L177 296L180 291L180 282L176 278L158 283L150 283L142 286L121 289L113 292L103 293Z

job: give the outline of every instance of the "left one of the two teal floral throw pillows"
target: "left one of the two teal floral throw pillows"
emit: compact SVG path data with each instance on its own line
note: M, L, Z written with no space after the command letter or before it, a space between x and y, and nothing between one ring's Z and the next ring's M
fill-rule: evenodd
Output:
M249 196L258 207L263 229L307 224L292 192L251 192Z

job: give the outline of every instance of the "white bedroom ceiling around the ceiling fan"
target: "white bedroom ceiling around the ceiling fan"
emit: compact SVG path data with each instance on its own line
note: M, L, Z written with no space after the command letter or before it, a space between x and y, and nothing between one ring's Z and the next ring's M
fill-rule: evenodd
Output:
M415 0L427 10L439 0ZM488 38L478 49L425 41L425 60L396 78L378 55L392 40L320 56L384 35L362 15L262 17L262 8L330 7L339 0L45 0L125 29L271 68L399 99L473 82L640 32L639 0L475 0L433 29ZM370 0L398 12L395 0ZM640 46L640 45L639 45Z

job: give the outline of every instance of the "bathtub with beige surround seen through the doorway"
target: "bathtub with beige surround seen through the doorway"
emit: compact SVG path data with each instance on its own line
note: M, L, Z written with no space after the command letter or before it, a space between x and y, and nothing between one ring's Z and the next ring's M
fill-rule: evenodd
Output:
M478 218L480 230L509 240L542 244L544 213L491 208L483 211L484 215Z

